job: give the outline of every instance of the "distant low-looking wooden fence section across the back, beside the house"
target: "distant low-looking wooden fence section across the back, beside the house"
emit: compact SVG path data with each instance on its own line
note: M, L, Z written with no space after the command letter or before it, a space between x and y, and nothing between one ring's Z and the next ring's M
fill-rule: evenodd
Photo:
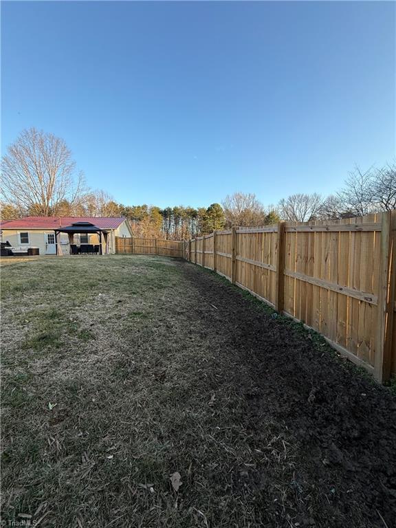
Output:
M179 240L126 238L115 236L115 253L185 256L186 242Z

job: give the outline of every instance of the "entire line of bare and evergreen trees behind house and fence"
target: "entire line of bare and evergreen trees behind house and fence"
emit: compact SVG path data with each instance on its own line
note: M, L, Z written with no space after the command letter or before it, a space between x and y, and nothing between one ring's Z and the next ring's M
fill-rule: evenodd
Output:
M25 130L1 160L1 219L23 216L119 217L136 236L188 239L231 225L311 221L364 216L396 208L396 163L362 171L358 166L335 194L299 193L265 207L252 193L234 192L207 208L159 208L117 203L104 190L91 190L76 171L72 153L53 134Z

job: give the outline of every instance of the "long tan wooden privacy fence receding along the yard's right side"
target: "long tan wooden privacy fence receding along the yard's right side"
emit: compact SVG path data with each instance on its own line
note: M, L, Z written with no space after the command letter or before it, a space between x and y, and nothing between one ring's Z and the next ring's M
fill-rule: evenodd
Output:
M396 374L396 211L217 231L191 240L188 259L303 321L377 380Z

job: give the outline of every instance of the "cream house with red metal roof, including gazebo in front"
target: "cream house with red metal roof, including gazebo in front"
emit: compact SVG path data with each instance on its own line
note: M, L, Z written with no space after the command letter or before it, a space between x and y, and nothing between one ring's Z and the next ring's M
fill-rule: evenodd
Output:
M92 246L115 253L115 236L132 236L132 230L125 217L25 217L0 222L0 234L14 253L68 255Z

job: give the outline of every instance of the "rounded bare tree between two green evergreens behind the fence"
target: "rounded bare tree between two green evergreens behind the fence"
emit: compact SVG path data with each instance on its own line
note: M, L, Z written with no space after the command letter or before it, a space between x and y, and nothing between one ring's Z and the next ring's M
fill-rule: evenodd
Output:
M266 211L263 204L252 193L234 192L223 201L225 225L254 227L265 225Z

